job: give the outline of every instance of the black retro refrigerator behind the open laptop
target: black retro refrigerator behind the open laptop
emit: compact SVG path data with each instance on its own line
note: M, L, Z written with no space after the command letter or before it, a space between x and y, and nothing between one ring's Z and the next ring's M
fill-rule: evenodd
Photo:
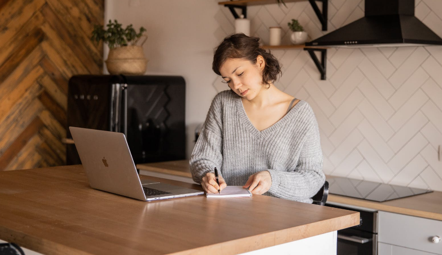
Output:
M81 164L69 126L124 133L135 164L185 159L185 93L181 76L73 76L66 163Z

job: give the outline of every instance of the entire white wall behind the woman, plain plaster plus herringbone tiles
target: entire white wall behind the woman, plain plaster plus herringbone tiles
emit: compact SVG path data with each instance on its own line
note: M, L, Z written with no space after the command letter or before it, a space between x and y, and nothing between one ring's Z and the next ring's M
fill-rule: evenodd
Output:
M137 7L130 7L130 3ZM415 0L416 17L442 36L442 1ZM234 33L234 19L214 0L107 1L106 15L144 26L150 39L148 74L182 75L187 82L188 152L193 129L217 91L212 50ZM252 34L268 42L268 28L298 19L314 39L364 15L363 0L329 0L328 31L307 1L248 8ZM117 11L118 10L118 11ZM283 65L277 86L307 101L321 132L324 172L442 191L442 46L329 49L327 80L301 50L272 53Z

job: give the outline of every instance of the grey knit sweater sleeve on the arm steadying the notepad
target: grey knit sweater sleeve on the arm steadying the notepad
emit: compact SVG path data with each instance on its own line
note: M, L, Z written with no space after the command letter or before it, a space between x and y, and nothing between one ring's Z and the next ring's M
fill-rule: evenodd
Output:
M272 186L268 192L272 195L311 203L311 197L324 184L319 128L314 115L312 122L310 129L306 132L306 139L294 171L268 169L272 177Z

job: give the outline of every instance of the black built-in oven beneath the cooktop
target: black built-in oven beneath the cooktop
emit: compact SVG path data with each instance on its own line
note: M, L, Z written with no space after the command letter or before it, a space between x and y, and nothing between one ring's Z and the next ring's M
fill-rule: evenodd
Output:
M337 255L376 255L378 253L377 211L326 203L326 206L359 211L360 224L338 231Z

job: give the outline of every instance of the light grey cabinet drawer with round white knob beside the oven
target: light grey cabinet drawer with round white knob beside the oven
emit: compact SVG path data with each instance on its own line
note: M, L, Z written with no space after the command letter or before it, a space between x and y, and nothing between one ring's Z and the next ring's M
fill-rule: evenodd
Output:
M442 221L379 211L378 240L384 243L442 254Z

